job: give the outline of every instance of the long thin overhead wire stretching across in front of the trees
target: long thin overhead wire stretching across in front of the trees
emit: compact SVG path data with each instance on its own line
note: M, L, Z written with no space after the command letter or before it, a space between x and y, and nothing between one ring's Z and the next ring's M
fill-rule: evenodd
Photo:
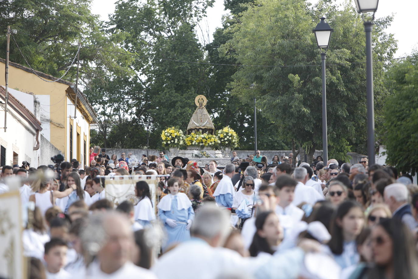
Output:
M67 44L67 45L70 45L70 46L77 46L76 44L71 44L69 42L51 40L51 39L48 39L48 38L43 38L43 37L39 37L39 36L35 36L35 35L28 34L28 33L23 33L23 34L28 35L28 36L31 36L31 37L35 37L35 38L42 38L42 39L44 39L44 41L49 41L49 42L54 42L54 43L59 43L59 44ZM92 47L92 46L87 46L87 45L83 45L83 48L97 50L97 51L104 51L104 52L108 52L108 53L112 53L112 54L122 54L122 55L134 56L134 57L139 57L139 58L152 59L152 57L149 57L149 56L142 56L142 55L132 54L132 53L124 53L124 52L120 52L120 51L111 51L111 50L107 50L107 49L99 49L99 48ZM373 60L373 62L383 62L383 61L391 61L391 60L398 60L398 59L406 59L406 58L417 57L417 56L418 55L410 55L410 56L403 56L403 57L398 57L398 58L379 59L379 60ZM165 61L174 61L174 62L182 62L182 63L204 64L204 65L218 65L218 66L232 66L232 67L270 67L270 68L278 67L278 68L289 68L289 67L321 67L322 66L321 64L312 64L312 65L221 64L221 63L185 61L185 60L170 59L170 58L158 58L158 57L154 57L154 59L157 59L157 60L165 60ZM339 65L365 64L365 63L366 63L366 61L361 61L361 62L347 62L347 63L333 63L333 64L326 64L326 66L339 66Z

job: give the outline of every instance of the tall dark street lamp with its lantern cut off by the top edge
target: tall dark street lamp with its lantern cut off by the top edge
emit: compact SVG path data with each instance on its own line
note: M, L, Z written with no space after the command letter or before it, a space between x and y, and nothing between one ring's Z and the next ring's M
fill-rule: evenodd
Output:
M375 105L373 97L373 57L372 57L372 20L379 0L354 0L357 12L363 13L362 19L366 33L366 91L367 91L367 154L369 165L375 164ZM373 12L372 20L366 20L364 13Z

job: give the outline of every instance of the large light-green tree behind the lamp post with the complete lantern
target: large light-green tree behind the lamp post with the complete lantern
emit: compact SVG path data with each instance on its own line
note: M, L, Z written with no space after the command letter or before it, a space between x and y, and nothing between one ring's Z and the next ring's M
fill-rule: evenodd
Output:
M229 84L232 95L248 105L257 97L278 138L293 141L296 150L313 154L321 149L321 67L312 33L321 10L334 28L326 69L329 156L346 160L348 151L359 151L366 131L365 39L352 5L339 10L329 1L311 8L305 0L257 0L247 7L231 26L233 38L220 50L240 64L271 67L240 67ZM396 49L393 37L383 31L391 20L376 21L375 59L391 58ZM385 64L375 63L376 102L388 94L382 84L384 70Z

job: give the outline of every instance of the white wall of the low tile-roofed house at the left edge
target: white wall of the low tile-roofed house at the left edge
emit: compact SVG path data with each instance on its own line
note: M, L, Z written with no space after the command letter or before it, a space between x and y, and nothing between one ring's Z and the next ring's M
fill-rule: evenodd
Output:
M6 164L13 166L13 152L18 154L18 164L28 161L33 167L38 166L33 146L36 145L36 130L15 110L8 106L7 131L4 125L4 105L0 112L0 144L6 148Z

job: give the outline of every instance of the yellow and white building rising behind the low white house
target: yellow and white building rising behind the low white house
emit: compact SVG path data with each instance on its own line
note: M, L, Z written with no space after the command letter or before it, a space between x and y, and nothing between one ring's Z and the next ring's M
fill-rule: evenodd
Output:
M90 146L90 125L97 123L97 113L82 92L77 93L76 114L74 102L75 85L66 80L56 80L42 72L20 64L9 63L8 87L35 95L39 102L42 135L64 155L66 161L77 159L82 165L88 164ZM0 85L5 85L5 60L0 59ZM39 77L38 77L39 76ZM75 116L75 117L74 117Z

